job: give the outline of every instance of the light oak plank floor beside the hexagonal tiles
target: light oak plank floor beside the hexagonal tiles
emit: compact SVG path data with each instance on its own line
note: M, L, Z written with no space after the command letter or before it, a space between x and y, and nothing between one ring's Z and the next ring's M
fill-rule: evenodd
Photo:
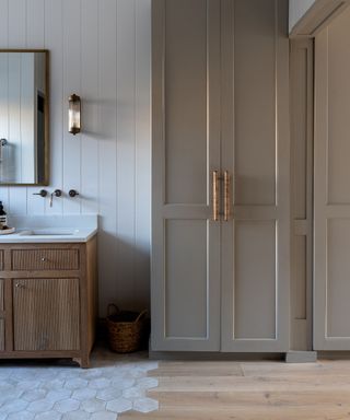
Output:
M350 361L160 362L148 396L158 411L120 420L350 419Z

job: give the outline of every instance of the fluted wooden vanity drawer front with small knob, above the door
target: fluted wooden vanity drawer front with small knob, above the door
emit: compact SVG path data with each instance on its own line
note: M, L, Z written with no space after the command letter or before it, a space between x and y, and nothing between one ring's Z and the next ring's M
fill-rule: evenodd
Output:
M79 249L12 249L12 270L79 270Z

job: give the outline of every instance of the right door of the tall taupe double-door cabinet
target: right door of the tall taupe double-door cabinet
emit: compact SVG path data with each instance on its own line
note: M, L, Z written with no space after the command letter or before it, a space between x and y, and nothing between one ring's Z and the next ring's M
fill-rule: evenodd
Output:
M223 1L221 159L233 176L222 225L224 351L289 348L287 18L285 0Z

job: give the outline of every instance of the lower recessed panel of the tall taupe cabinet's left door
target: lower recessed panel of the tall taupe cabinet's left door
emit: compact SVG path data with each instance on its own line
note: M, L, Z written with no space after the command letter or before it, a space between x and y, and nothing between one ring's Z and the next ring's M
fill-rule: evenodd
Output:
M205 338L208 334L207 221L168 220L165 232L165 336Z

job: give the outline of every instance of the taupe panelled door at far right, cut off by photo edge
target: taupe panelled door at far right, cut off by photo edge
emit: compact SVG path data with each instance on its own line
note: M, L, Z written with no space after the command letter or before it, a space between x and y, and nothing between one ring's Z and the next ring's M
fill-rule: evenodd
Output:
M349 25L347 10L315 38L315 350L350 350Z

